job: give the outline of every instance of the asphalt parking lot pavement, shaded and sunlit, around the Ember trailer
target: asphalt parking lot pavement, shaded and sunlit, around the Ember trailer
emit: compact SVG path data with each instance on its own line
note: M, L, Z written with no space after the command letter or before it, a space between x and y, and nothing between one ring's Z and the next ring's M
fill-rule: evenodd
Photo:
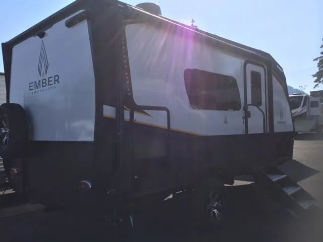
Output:
M294 161L282 166L317 200L306 218L292 218L275 201L258 193L253 183L228 186L228 212L223 227L205 233L190 224L171 204L156 205L155 213L138 220L135 241L323 241L323 135L300 134ZM158 218L158 219L156 219ZM7 206L0 210L0 241L111 241L109 233L62 212L43 213L39 205Z

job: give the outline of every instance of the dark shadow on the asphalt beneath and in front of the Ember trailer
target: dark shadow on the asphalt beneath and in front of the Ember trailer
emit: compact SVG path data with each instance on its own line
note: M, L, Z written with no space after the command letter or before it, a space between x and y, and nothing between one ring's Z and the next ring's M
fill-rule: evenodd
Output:
M255 186L227 187L227 220L218 230L203 232L192 226L189 211L173 203L156 204L137 218L137 233L126 241L313 241L321 242L320 217L295 220L275 202L257 194ZM303 225L306 226L303 226ZM319 226L318 226L319 225ZM0 219L2 242L118 241L106 228L62 212L41 210ZM120 240L119 240L120 241Z

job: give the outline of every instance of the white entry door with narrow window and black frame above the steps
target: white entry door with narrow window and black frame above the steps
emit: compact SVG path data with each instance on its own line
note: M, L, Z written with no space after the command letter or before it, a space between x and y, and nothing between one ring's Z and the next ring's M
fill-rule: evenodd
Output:
M267 132L267 95L265 70L261 65L245 65L245 116L246 133Z

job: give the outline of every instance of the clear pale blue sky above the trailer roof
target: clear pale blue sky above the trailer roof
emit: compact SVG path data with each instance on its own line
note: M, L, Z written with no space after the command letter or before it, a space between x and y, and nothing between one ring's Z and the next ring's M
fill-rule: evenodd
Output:
M5 42L72 0L1 1L0 42ZM140 0L125 0L136 5ZM154 2L154 1L150 1ZM313 90L311 74L317 70L323 38L322 0L157 0L163 15L271 53L283 67L288 85L307 85ZM1 52L1 51L0 51ZM2 56L0 71L3 71ZM323 89L323 85L318 89Z

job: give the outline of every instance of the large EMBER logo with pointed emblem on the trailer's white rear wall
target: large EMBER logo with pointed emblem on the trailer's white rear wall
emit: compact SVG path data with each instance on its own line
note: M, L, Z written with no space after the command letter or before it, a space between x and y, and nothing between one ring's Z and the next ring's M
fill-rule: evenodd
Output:
M48 57L47 57L44 42L42 41L40 46L39 60L38 60L38 74L41 79L29 83L29 91L31 91L32 94L55 89L56 86L60 84L59 75L46 77L48 72L48 67L49 67Z

